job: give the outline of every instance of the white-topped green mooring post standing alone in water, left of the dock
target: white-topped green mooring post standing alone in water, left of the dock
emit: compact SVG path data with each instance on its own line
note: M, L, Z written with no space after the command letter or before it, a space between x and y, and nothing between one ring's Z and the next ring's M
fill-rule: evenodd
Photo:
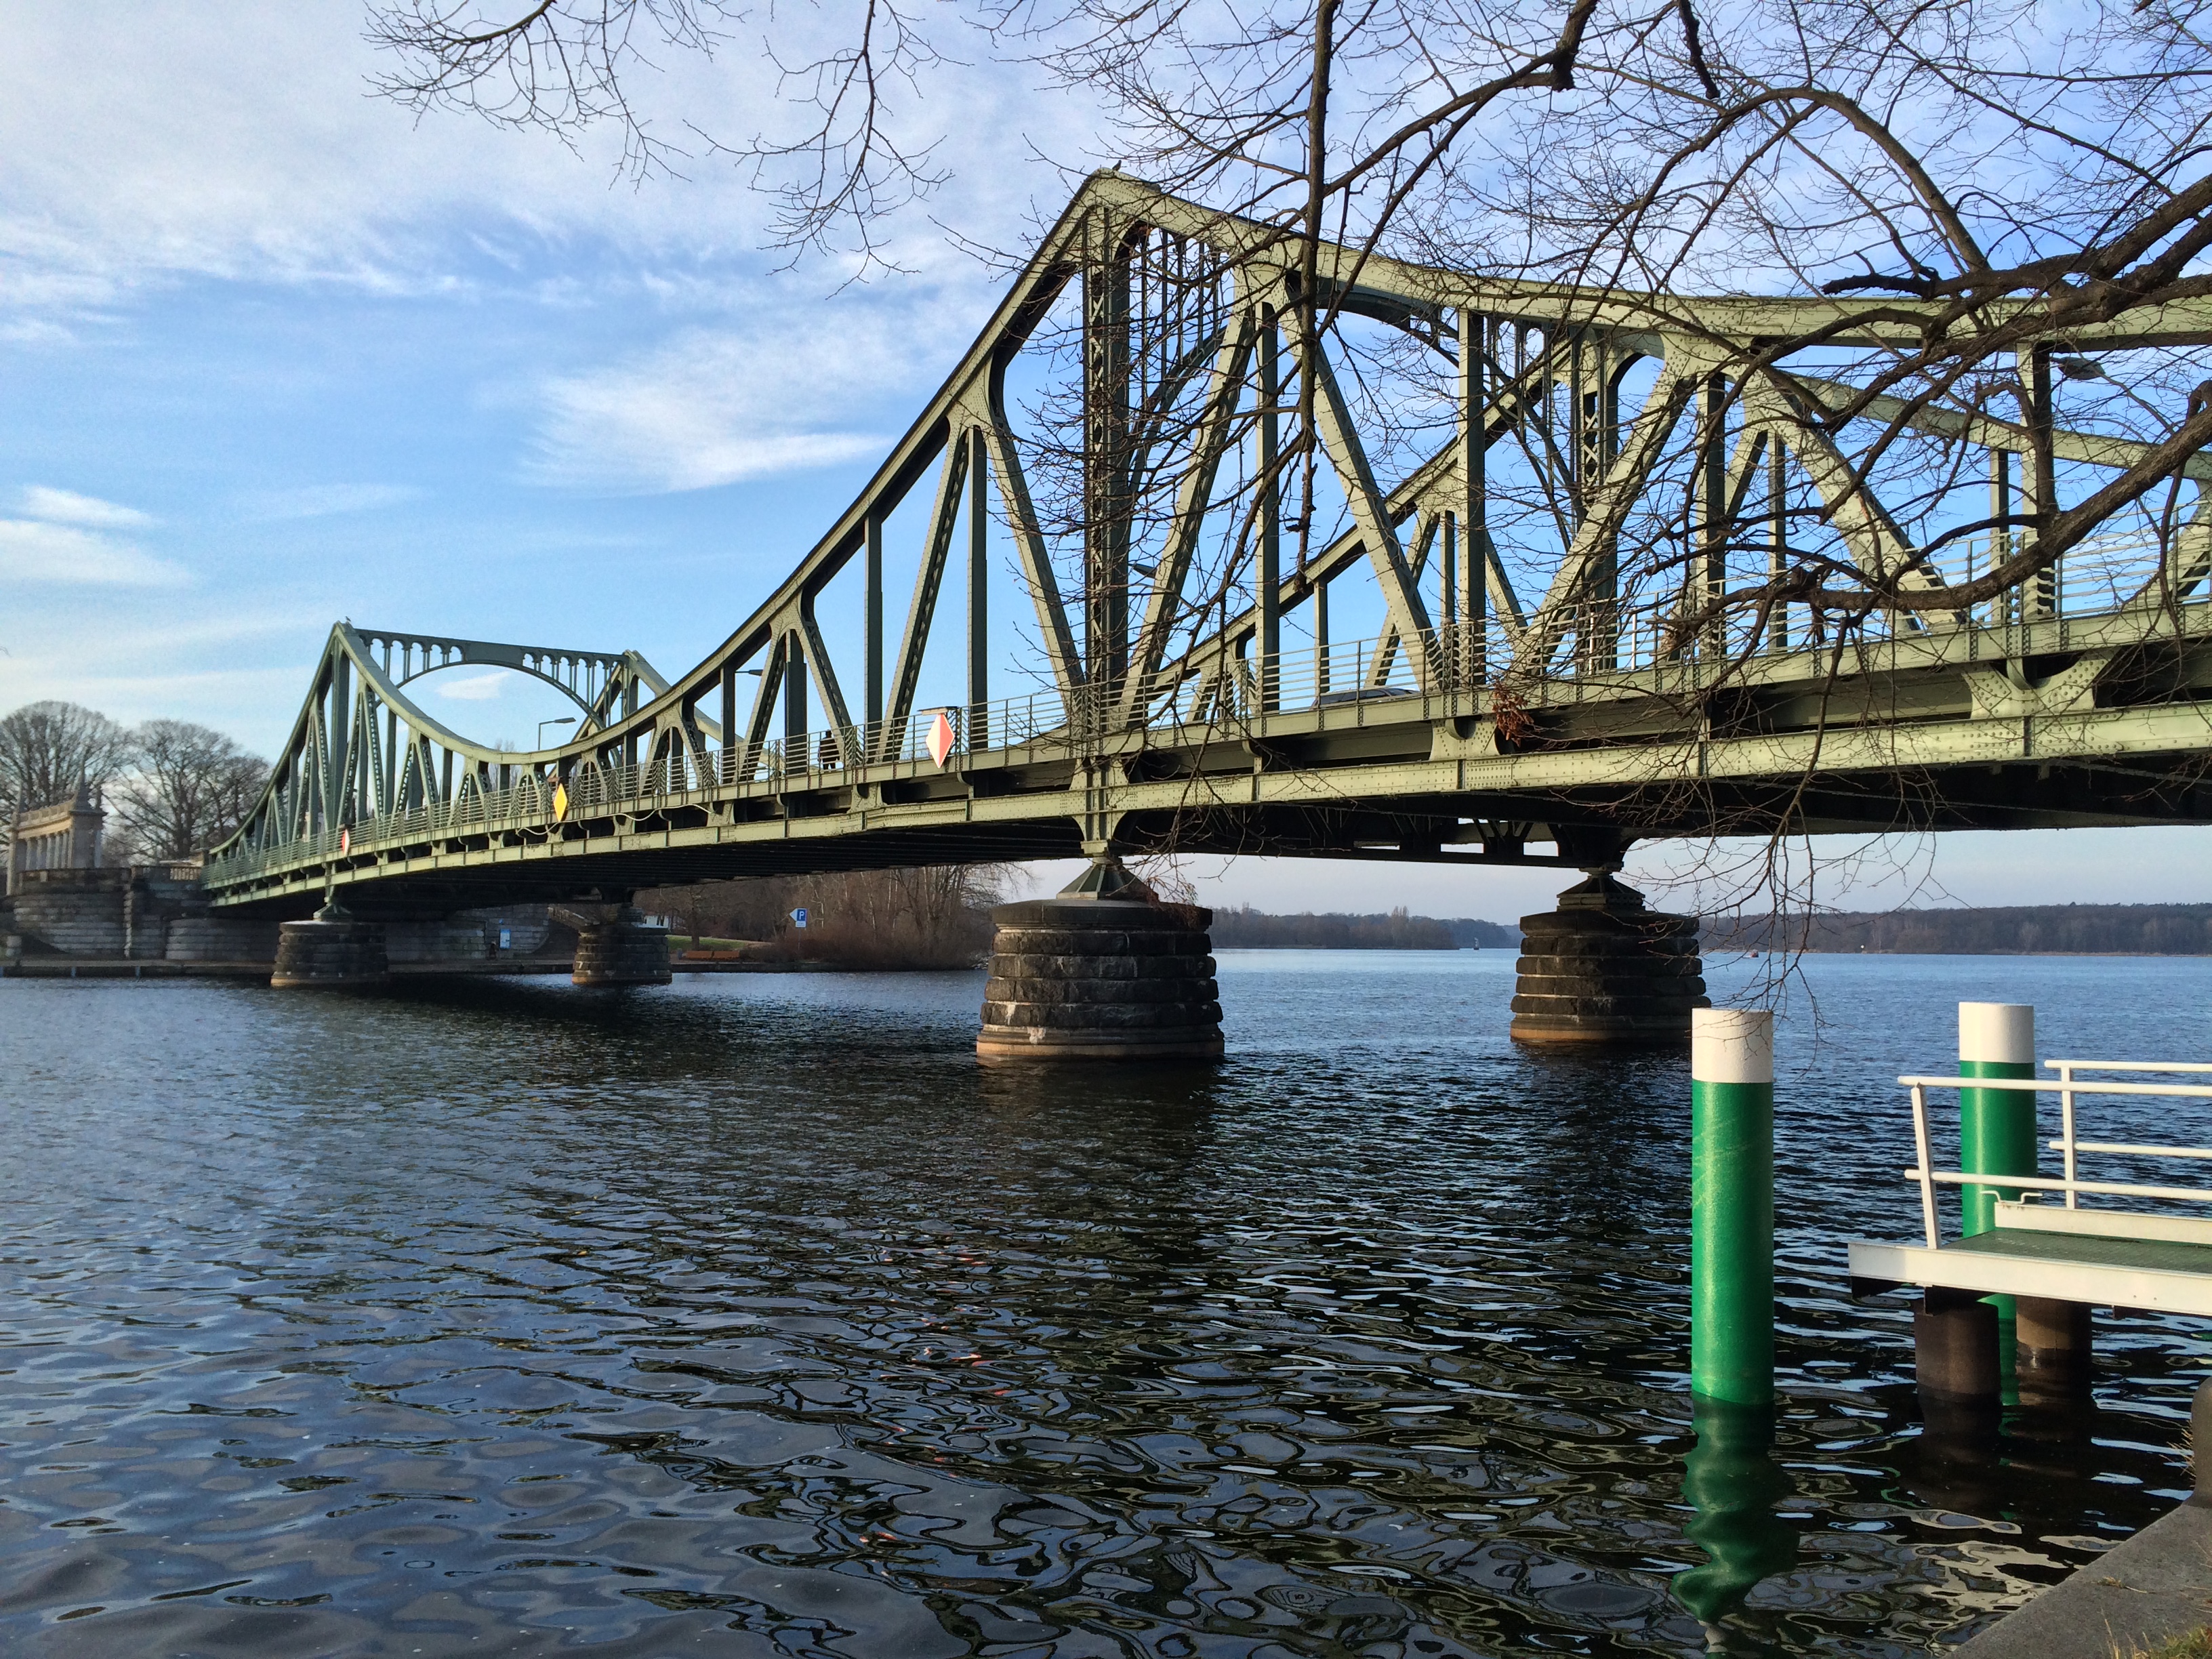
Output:
M1690 1015L1690 1391L1774 1400L1774 1015Z

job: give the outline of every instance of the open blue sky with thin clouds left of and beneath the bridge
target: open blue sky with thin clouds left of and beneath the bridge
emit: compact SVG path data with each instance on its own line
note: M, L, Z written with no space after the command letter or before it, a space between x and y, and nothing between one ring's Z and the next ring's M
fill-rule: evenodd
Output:
M688 668L973 338L1000 276L971 248L1024 248L1091 164L1079 100L978 53L907 100L949 184L889 226L900 272L856 281L763 248L770 204L726 159L633 186L611 139L416 119L369 93L361 33L349 0L9 9L0 710L62 697L270 754L341 617ZM745 137L774 80L748 38L666 53L637 91L664 133L712 111ZM562 712L515 677L418 690L520 745ZM2194 830L1947 836L1847 860L1887 880L1823 898L2212 900L2205 854ZM1635 869L1692 865L1657 847ZM1564 885L1265 858L1181 876L1217 905L1500 920Z

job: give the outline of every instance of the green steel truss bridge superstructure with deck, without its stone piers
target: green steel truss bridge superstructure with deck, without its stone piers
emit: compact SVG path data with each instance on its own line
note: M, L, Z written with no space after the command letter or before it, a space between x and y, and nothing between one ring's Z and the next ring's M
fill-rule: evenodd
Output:
M1239 480L1292 416L1298 272L1296 241L1091 179L860 495L697 668L338 624L268 792L208 858L210 894L301 914L336 887L400 914L1108 847L1575 865L1621 836L1776 825L2212 821L2212 458L2188 462L2177 533L2115 524L1993 602L1876 615L1849 648L1805 637L1790 608L1686 633L1701 593L1783 571L1812 540L1869 577L1942 588L2013 531L1916 544L1807 409L1843 385L1723 378L1732 352L1834 325L1840 303L1475 281L1323 246L1329 303L1442 363L1449 403L1433 447L1389 465L1402 434L1363 403L1345 347L1314 354L1312 500L1338 529L1296 560L1294 498ZM1024 352L1071 305L1086 504L1057 535L1015 425ZM1887 323L1827 345L1878 349L1911 312L1885 305ZM2212 307L2053 345L2203 343ZM2022 363L2048 411L2046 349ZM1188 411L1172 442L1168 405ZM1869 414L1944 445L2000 507L2028 489L2022 427L1900 407ZM1701 436L1670 460L1686 425ZM2090 478L2143 453L2095 431L2051 442ZM1548 553L1509 549L1513 467L1553 491ZM1150 529L1128 509L1139 476L1172 502ZM925 484L887 653L885 533ZM1624 580L1626 538L1659 522L1681 529L1679 580ZM998 699L993 526L1037 659L1033 688ZM854 562L860 622L832 641L818 599ZM1378 637L1329 639L1329 595L1343 613L1352 586ZM1287 617L1312 644L1285 648ZM964 697L922 706L947 624ZM442 726L407 686L456 664L557 686L568 741L509 752Z

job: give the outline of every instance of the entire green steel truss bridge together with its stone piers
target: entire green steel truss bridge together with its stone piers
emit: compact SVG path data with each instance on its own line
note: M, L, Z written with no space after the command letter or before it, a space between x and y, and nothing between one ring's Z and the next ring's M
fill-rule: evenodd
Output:
M338 624L206 883L325 907L345 949L557 902L635 978L644 887L1088 856L1006 918L984 1051L1206 1053L1206 945L1170 933L1208 918L1121 858L1559 865L1586 880L1528 918L1515 1035L1679 1042L1694 929L1615 878L1637 838L2212 821L2212 458L1966 586L2152 453L2110 411L2212 305L1947 316L2013 330L2008 389L1867 392L1933 316L1480 279L1099 175L703 661ZM1809 599L1847 580L1845 624ZM557 686L573 728L462 737L407 690L453 664Z

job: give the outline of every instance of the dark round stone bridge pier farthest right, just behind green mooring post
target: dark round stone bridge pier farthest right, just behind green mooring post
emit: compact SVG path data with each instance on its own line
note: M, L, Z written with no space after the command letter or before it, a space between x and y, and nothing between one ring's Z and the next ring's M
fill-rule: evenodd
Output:
M1705 1004L1697 918L1661 916L1593 869L1559 909L1522 916L1511 1035L1542 1044L1686 1044Z

